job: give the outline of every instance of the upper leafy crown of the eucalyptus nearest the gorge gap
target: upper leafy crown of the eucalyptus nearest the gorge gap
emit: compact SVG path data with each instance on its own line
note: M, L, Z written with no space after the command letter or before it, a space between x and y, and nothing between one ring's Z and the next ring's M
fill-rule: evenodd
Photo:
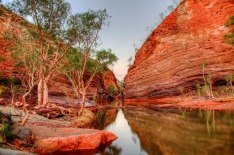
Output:
M98 43L98 33L108 26L109 15L106 10L92 11L72 15L68 20L67 40L78 44L79 52L92 52Z

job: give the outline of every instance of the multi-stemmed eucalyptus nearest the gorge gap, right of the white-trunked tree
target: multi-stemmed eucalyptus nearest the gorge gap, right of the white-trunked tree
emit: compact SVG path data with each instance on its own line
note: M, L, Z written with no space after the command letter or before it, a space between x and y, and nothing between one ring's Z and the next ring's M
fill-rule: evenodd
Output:
M99 33L104 26L109 25L109 18L106 10L88 10L72 15L68 20L67 40L75 42L74 49L68 53L69 67L64 73L81 104L79 114L82 113L87 89L95 75L117 61L111 50L97 50L101 44Z

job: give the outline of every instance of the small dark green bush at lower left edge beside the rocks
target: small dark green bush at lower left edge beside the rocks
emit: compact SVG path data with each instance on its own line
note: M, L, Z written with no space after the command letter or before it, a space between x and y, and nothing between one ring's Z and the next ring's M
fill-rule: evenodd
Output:
M0 124L0 136L2 138L2 142L6 142L8 138L13 137L13 133L10 128L10 123Z

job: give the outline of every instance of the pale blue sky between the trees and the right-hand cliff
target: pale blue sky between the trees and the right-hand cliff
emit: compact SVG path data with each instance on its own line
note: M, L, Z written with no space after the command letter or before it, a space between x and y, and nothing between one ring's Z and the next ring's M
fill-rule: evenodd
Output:
M3 3L10 0L2 0ZM179 0L67 0L72 13L85 12L88 9L107 9L112 16L110 26L105 27L100 38L99 47L112 49L119 58L113 71L119 80L123 80L128 69L128 59L135 57L135 47L140 48L151 29L160 23L159 14L167 10L173 1ZM164 13L165 14L165 13ZM167 13L168 14L168 13Z

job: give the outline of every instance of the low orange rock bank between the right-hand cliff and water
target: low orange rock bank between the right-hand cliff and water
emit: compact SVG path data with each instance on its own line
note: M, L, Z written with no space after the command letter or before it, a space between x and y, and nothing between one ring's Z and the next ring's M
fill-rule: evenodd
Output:
M124 105L142 105L153 108L185 108L201 110L234 111L234 97L206 98L206 97L167 97L161 99L125 99Z

